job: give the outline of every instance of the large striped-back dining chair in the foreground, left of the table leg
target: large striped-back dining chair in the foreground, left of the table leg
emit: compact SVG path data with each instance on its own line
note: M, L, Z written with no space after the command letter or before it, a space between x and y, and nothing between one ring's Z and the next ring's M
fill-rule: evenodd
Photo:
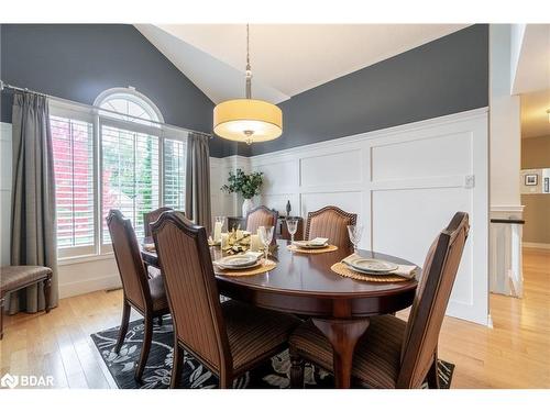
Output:
M174 324L170 388L177 388L184 348L219 377L220 388L284 350L299 321L289 314L220 303L205 227L175 212L152 225Z

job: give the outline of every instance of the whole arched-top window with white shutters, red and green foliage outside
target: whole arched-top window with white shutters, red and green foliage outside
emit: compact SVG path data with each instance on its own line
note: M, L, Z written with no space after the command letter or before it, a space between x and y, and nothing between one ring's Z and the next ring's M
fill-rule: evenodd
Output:
M120 115L50 104L59 258L111 252L111 209L132 221L138 238L144 213L162 205L185 209L187 132L160 123L147 99L128 93L119 90L98 104L109 103L106 109L120 109Z

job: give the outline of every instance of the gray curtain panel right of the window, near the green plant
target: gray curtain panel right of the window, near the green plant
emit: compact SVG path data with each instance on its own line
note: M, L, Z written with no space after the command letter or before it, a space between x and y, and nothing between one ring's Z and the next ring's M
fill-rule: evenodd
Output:
M185 214L196 224L211 230L210 149L208 137L189 133L187 137L187 170Z

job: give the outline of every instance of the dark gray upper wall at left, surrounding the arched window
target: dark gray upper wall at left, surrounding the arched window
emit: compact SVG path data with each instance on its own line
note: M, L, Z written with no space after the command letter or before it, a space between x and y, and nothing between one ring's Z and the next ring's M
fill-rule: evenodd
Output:
M212 131L213 103L135 27L127 24L2 24L1 79L92 104L103 90L133 86L155 102L167 123ZM1 121L11 122L11 93ZM210 141L212 156L234 144Z

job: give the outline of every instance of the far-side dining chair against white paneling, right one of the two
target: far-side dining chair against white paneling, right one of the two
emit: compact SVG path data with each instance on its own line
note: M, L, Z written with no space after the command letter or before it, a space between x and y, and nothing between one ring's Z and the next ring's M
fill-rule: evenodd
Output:
M348 225L356 223L358 215L355 213L348 213L334 205L328 205L308 213L306 240L328 237L331 245L351 247Z

